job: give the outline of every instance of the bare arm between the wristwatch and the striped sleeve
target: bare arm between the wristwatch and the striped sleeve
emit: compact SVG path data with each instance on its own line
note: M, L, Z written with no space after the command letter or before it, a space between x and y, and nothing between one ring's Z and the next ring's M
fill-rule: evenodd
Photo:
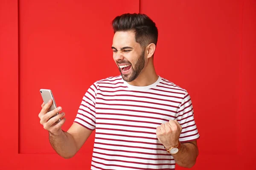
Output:
M180 167L192 167L194 166L197 156L198 148L193 143L184 143L181 144L180 150L178 153L172 155L175 159L175 162Z

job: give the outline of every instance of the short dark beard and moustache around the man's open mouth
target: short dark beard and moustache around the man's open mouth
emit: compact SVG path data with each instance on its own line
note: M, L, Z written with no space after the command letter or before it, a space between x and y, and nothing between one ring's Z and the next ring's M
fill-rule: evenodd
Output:
M137 60L137 62L134 64L134 66L130 63L130 62L119 62L119 64L121 63L128 63L131 65L131 74L122 74L121 68L119 68L119 71L122 75L122 79L125 80L126 82L132 82L134 81L139 75L140 72L143 70L144 66L145 66L145 51L142 52L142 54L140 54L139 59Z

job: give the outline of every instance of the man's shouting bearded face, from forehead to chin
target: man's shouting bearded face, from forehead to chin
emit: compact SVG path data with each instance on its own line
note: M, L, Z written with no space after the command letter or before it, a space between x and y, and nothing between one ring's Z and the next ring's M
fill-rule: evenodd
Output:
M136 79L145 65L145 51L131 31L117 31L113 37L113 59L126 82Z

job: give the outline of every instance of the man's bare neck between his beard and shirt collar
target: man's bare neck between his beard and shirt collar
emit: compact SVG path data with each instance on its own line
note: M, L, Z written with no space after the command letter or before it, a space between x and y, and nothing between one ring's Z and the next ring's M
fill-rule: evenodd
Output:
M154 69L153 61L149 61L141 71L140 75L134 81L128 83L134 86L148 86L154 84L157 79L158 76Z

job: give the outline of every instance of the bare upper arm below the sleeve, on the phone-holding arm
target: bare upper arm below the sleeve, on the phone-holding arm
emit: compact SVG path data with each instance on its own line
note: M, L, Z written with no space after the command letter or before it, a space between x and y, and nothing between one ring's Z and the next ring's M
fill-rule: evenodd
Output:
M77 151L82 147L92 132L93 130L89 130L75 122L71 125L69 130L67 130L67 133L73 137L76 143Z

